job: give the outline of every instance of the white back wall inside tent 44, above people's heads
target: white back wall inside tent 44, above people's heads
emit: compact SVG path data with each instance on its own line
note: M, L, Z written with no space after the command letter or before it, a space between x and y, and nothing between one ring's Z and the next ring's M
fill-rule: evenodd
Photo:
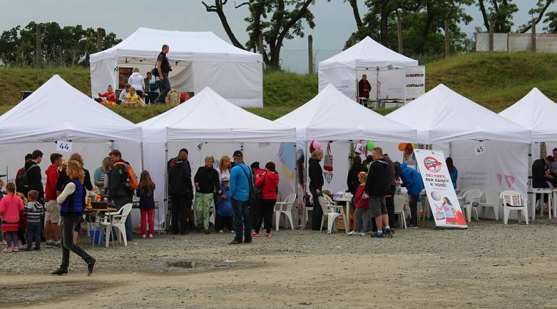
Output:
M93 182L95 169L101 166L102 159L107 157L107 154L111 150L111 145L112 143L108 141L98 143L73 143L72 153L77 152L83 157L85 168L87 168L91 174L91 182ZM62 154L65 159L68 159L71 155L68 152L57 150L56 143L54 142L0 145L0 174L5 173L6 168L8 168L8 181L14 181L17 170L24 166L25 154L31 153L36 149L43 153L42 161L39 164L42 174L42 184L46 184L47 181L45 171L50 165L50 154L58 152Z

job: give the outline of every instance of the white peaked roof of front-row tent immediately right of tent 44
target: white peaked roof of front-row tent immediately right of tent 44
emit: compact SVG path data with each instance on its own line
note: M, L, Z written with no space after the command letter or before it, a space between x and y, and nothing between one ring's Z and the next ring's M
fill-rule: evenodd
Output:
M139 123L144 141L293 142L293 127L279 125L228 102L209 87L187 102ZM166 133L166 135L165 135Z

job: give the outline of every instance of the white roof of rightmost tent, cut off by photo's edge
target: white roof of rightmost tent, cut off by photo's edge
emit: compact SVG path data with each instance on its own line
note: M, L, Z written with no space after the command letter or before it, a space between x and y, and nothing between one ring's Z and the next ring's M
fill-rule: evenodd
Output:
M512 104L499 115L532 130L532 141L556 141L557 104L538 88L533 88L519 102Z

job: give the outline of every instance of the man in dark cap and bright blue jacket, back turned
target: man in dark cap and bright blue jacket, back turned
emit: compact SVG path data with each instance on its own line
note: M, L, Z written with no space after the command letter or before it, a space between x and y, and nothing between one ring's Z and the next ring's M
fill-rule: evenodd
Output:
M230 244L242 244L242 230L244 243L251 243L251 219L249 217L249 196L253 185L251 168L244 164L244 154L236 150L233 154L234 167L230 171L230 198L234 216L234 230L236 237Z

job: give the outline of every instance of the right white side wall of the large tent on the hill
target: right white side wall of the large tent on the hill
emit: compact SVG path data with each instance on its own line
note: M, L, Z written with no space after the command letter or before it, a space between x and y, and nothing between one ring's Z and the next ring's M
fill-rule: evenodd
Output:
M263 107L262 63L196 61L194 91L209 86L237 106Z

